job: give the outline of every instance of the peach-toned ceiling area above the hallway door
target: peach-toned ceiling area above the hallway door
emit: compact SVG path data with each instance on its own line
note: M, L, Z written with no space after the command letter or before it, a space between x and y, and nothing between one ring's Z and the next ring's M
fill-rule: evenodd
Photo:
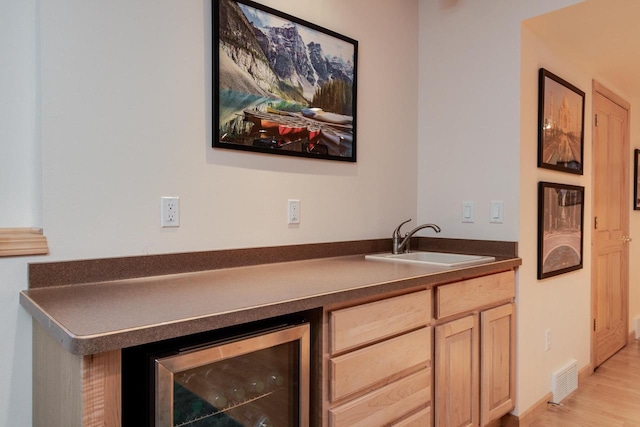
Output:
M587 0L524 24L550 45L589 64L628 101L640 97L640 1Z

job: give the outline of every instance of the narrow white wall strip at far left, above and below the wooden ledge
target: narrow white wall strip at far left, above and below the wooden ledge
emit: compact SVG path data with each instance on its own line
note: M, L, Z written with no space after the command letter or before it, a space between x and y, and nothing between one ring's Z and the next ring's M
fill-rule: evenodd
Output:
M0 3L0 227L41 227L35 0ZM26 263L0 258L0 426L31 425L31 316Z

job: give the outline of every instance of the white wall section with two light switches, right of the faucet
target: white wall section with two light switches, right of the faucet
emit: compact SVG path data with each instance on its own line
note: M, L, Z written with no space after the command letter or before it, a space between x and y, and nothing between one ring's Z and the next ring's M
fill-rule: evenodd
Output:
M418 217L443 237L518 240L520 22L577 2L420 0Z

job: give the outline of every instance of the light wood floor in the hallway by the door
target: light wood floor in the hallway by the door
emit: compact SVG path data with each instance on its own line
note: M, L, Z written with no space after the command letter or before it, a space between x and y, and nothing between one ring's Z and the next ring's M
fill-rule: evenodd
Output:
M531 427L640 427L640 341L632 340Z

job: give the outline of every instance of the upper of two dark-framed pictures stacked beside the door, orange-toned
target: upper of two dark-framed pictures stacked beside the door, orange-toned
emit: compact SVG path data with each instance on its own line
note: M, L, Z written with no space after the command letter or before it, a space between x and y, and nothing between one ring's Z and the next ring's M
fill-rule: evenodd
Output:
M582 175L584 101L583 91L540 68L538 167Z

